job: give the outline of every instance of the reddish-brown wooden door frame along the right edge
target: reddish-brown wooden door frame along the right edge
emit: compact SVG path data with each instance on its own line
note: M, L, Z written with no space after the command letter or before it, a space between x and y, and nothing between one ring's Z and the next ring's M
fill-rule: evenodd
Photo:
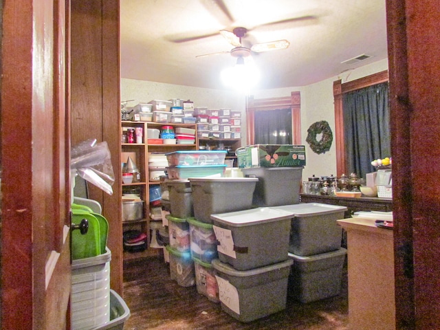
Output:
M440 10L386 3L397 329L440 329Z

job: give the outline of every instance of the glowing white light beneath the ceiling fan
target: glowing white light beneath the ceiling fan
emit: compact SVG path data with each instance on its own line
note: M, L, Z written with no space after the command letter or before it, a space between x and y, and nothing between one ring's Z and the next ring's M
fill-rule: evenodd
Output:
M239 56L234 67L227 67L221 72L221 80L228 87L239 91L248 91L259 82L260 73L254 63L245 63Z

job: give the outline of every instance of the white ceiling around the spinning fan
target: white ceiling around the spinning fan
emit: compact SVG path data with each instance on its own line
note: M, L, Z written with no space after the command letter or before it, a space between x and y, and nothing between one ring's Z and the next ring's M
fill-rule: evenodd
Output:
M247 46L290 42L287 50L252 54L262 76L258 89L310 85L387 57L385 0L120 3L122 78L223 89L221 69L236 59L230 54L196 56L232 50L219 30L239 26L249 30L243 38ZM193 40L177 42L188 38ZM361 54L372 57L341 64Z

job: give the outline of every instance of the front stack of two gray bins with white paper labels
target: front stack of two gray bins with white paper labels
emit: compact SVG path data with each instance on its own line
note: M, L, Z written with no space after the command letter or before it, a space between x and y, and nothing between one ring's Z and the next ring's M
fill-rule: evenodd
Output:
M291 212L254 208L212 214L220 245L217 272L221 308L241 322L285 309L292 259L289 259Z

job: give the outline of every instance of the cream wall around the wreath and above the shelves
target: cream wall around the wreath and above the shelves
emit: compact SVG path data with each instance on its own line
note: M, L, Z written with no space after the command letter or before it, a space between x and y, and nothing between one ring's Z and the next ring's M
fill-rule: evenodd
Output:
M307 129L314 122L327 120L331 130L335 131L335 115L333 106L333 81L342 80L342 83L369 76L376 72L388 69L388 61L382 60L365 65L358 69L344 72L340 76L335 76L318 83L303 87L288 87L282 89L265 89L254 91L254 98L279 98L290 96L292 91L301 93L301 137L302 143L306 146L307 166L303 170L303 179L311 175L336 175L336 147L333 137L333 144L330 151L320 155L314 153L307 142ZM163 83L153 83L143 80L122 79L121 80L121 100L134 100L129 106L134 106L139 102L149 102L150 100L168 100L170 98L190 99L195 102L195 107L210 107L219 109L228 107L242 111L245 118L245 96L234 93L233 91L220 91L215 89L205 89L196 87L186 87L181 85L170 85ZM245 125L242 127L245 145Z

